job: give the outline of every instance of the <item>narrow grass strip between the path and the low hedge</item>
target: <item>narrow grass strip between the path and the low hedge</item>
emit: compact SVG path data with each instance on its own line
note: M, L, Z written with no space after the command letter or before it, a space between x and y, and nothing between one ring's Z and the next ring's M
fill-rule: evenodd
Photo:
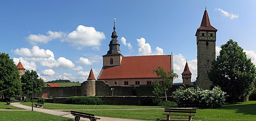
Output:
M21 103L25 106L31 106L31 103ZM144 109L144 108L160 108L157 106L123 106L123 105L72 105L72 104L52 104L44 103L45 109Z

